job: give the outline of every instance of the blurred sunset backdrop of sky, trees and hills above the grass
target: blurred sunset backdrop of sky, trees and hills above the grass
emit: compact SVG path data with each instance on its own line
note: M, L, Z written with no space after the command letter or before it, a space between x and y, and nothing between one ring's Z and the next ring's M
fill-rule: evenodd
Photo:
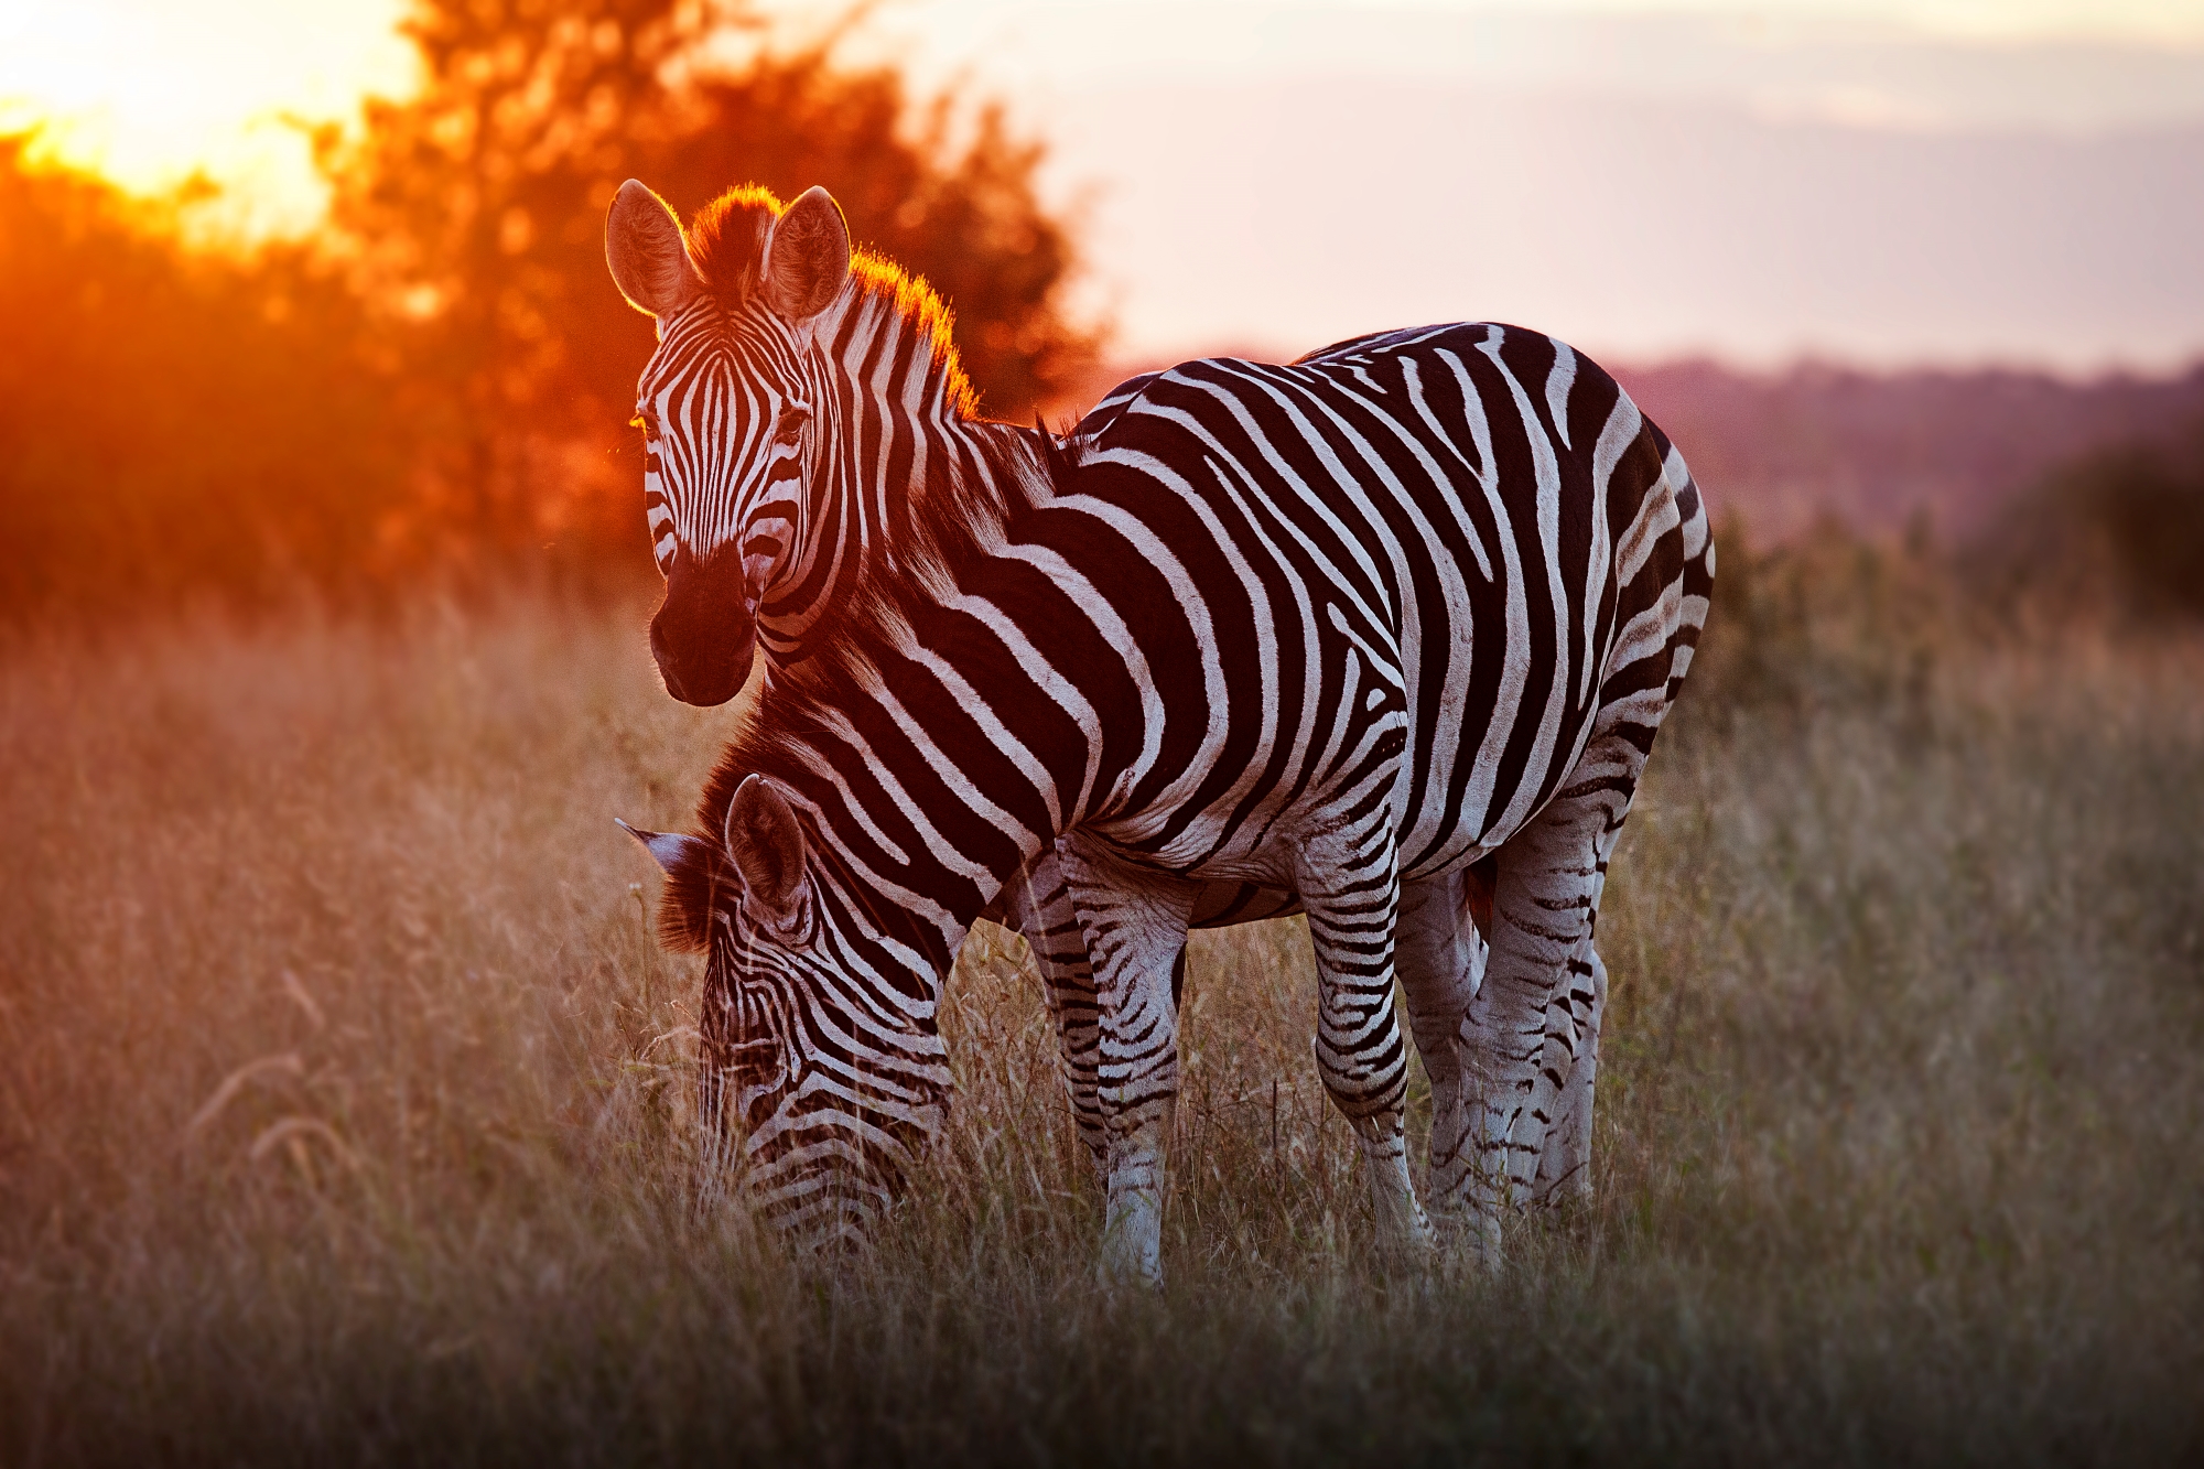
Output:
M1752 545L2197 565L2200 0L9 0L0 130L18 622L648 576L630 174L829 185L994 417L1508 320Z

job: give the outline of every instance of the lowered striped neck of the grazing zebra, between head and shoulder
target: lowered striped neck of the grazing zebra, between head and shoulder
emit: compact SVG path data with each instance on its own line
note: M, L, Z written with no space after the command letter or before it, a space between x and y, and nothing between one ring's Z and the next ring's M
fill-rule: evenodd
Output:
M1089 527L1042 503L974 521L926 567L884 562L831 640L769 668L703 827L745 776L771 779L809 814L829 902L946 973L1065 827L1173 759L1146 732L1133 629L1089 615L1109 556L1067 576L1049 549Z

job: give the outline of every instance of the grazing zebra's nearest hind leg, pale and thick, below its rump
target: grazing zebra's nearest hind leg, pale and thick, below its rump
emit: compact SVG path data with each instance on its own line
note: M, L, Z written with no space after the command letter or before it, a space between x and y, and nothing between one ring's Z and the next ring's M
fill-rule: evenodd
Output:
M1574 990L1580 964L1598 995L1591 929L1602 873L1629 816L1644 752L1620 735L1596 737L1560 794L1499 851L1492 900L1492 955L1463 1026L1474 1048L1479 1154L1468 1193L1490 1220L1508 1200L1527 1202L1538 1156L1560 1112L1563 1083L1576 1070ZM1556 1004L1560 1001L1560 1004ZM1585 1074L1585 1087L1591 1072ZM1589 1116L1589 1112L1587 1112Z

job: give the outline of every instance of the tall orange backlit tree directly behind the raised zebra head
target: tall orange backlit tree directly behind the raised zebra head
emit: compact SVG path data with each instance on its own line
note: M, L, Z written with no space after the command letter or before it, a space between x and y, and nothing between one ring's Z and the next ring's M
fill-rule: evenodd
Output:
M324 132L320 161L436 446L423 536L639 554L624 423L652 335L602 256L628 176L683 212L734 183L824 183L860 243L950 298L987 410L1029 412L1091 355L1062 313L1073 251L1034 194L1040 146L994 108L952 143L950 101L842 68L833 35L776 51L743 0L414 0L406 31L419 97Z

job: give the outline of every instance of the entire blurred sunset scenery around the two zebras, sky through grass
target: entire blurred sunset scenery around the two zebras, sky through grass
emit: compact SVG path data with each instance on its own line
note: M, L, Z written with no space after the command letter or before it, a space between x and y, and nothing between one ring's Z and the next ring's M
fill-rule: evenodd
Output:
M987 924L879 1246L721 1207L628 176L824 183L1003 419L1485 318L1682 446L1503 1275L1371 1251L1300 920L1153 1299ZM0 0L0 1462L2204 1462L2200 262L2204 0Z

